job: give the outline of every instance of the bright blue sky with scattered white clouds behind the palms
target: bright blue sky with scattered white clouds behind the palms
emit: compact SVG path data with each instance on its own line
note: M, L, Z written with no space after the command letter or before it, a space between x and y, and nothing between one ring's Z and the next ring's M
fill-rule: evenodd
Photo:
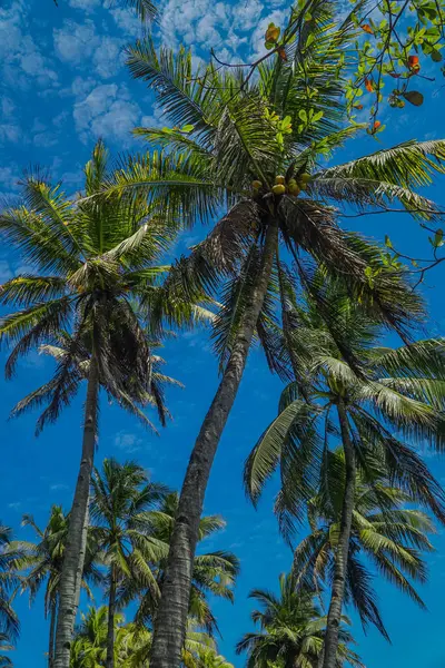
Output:
M123 4L123 3L122 3ZM212 0L167 0L164 3L161 32L165 41L177 47L192 45L197 58L214 47L222 59L258 52L265 23L280 23L285 2L241 0L239 3ZM164 125L140 82L130 80L122 48L140 35L136 17L118 0L107 8L100 0L2 0L0 7L0 193L13 196L22 169L32 164L51 168L63 179L67 190L81 184L81 167L97 137L105 138L113 153L140 148L129 130L137 125ZM426 84L426 104L402 112L384 110L387 124L382 136L385 146L409 138L437 138L443 127L442 81ZM427 88L428 87L428 88ZM350 143L335 160L340 161L377 148L366 135ZM445 179L438 179L429 195L445 208ZM369 216L345 220L350 228L383 238L389 234L407 254L428 253L426 233L407 216ZM202 235L191 232L185 244ZM0 283L26 271L9 248L0 248ZM444 333L445 306L442 285L445 271L438 267L424 288L431 306L429 331ZM206 332L186 333L169 342L165 351L167 370L186 390L169 392L174 422L156 439L138 428L113 406L102 404L98 462L103 456L120 460L136 458L152 471L156 480L179 487L190 448L217 386L217 365ZM82 396L79 396L59 423L38 440L33 436L34 415L8 422L11 406L50 373L50 364L31 354L21 364L17 377L2 379L0 429L2 480L0 517L13 527L17 537L23 512L32 512L44 525L52 503L70 505L76 479L80 438ZM280 384L270 376L258 351L250 355L237 403L224 434L206 498L206 512L227 520L226 530L207 549L231 549L241 559L241 576L236 603L215 603L224 636L220 651L235 658L234 646L249 630L247 599L254 587L275 588L278 573L287 570L290 553L279 539L271 514L270 489L254 511L241 488L243 462L265 425L276 414ZM427 452L428 463L445 482L445 465ZM437 553L429 559L431 583L424 596L429 613L416 609L384 582L378 583L382 607L393 646L370 630L364 637L358 625L354 632L359 652L369 668L439 668L445 665L443 600L445 596L445 538L435 538ZM29 610L22 597L17 605L22 633L14 652L17 668L46 665L47 626L42 600Z

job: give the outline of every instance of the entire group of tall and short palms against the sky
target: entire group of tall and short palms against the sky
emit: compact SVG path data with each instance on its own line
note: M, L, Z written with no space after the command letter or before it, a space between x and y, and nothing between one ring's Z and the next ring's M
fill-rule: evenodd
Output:
M56 364L13 414L40 409L40 433L85 386L69 515L53 509L47 530L36 528L39 548L11 544L3 532L0 552L0 630L17 633L10 592L27 582L32 595L46 579L51 668L146 665L148 656L151 668L178 668L202 652L204 665L222 661L202 636L216 629L205 593L230 598L238 563L229 553L196 557L196 549L218 528L201 518L204 498L255 341L286 389L246 463L245 484L256 502L279 470L275 512L294 563L280 601L257 592L261 629L239 649L258 668L359 665L342 627L345 606L387 636L369 560L422 605L413 581L425 579L422 552L432 549L425 512L444 522L445 497L416 446L444 448L443 341L415 341L426 313L409 269L340 220L397 202L436 225L439 207L416 189L444 171L445 140L326 166L363 130L345 125L344 114L345 53L356 28L352 16L336 22L330 1L307 4L291 10L286 58L265 60L250 78L215 63L196 68L191 52L157 49L150 38L131 47L130 72L154 91L168 125L137 128L148 150L117 164L99 141L76 196L29 174L22 202L0 215L2 238L32 267L1 287L7 377L34 348ZM164 264L198 223L211 224L207 236ZM176 381L156 351L171 330L192 326L211 328L221 377L180 494L132 464L107 461L99 474L101 397L154 431L147 411L155 409L165 425L165 390ZM403 346L387 347L388 333ZM310 533L295 546L305 517ZM75 633L90 581L105 587L107 608L83 613ZM135 621L125 623L120 609L131 601Z

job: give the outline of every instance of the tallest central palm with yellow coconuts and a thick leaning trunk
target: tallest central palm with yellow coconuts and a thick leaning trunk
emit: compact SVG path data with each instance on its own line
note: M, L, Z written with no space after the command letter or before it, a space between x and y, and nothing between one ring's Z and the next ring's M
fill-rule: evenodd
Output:
M436 207L414 189L426 185L434 170L443 171L445 143L407 143L319 169L322 158L360 129L344 125L342 62L347 68L355 28L350 19L333 28L334 12L330 0L294 7L283 32L287 46L281 57L265 60L258 78L243 84L244 68L194 68L191 52L184 49L178 55L156 51L147 39L129 50L134 77L152 89L169 125L136 130L165 154L132 159L119 173L116 190L144 194L148 202L164 196L190 224L224 214L167 283L177 295L202 286L222 294L214 330L222 377L181 490L152 668L177 668L179 662L204 495L255 332L270 366L291 373L274 347L274 304L286 301L280 285L287 268L279 248L294 257L290 273L304 285L315 263L347 283L356 298L404 335L407 322L418 315L418 301L407 295L403 272L394 272L378 250L344 233L337 207L345 203L359 212L383 210L399 200L414 215L434 219ZM304 188L307 194L298 196ZM290 335L286 320L284 307L281 321Z

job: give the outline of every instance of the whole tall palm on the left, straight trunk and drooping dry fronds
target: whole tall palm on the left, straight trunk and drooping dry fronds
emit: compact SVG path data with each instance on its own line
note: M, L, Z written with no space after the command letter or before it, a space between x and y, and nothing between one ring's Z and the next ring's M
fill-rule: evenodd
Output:
M137 397L151 394L162 424L166 419L162 397L151 385L149 341L138 313L142 306L146 313L148 304L151 314L154 304L158 314L165 306L157 281L166 267L155 263L177 229L166 206L148 205L138 197L95 196L112 181L101 141L85 177L85 197L72 199L60 184L51 186L43 175L31 174L22 186L23 205L0 215L0 234L37 272L12 278L1 288L3 304L21 306L0 325L0 338L13 344L7 376L12 376L20 356L39 344L60 343L60 337L67 344L53 377L19 403L16 414L47 404L37 431L56 421L86 377L79 358L88 357L82 454L59 589L57 668L68 668L79 600L100 387L123 407L134 392ZM184 302L167 306L162 313L170 321L194 321L196 310ZM155 323L147 322L155 331ZM142 411L137 414L148 422Z

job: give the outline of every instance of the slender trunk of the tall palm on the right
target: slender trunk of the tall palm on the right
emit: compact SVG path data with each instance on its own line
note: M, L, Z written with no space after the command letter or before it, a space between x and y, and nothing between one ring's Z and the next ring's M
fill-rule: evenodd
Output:
M350 527L353 523L354 494L355 494L355 452L350 440L349 425L345 403L343 400L337 404L338 421L345 452L345 495L343 499L340 532L337 550L335 552L334 582L330 596L330 605L327 613L326 635L324 644L323 668L336 668L338 630L342 621L342 608L345 596L347 561L349 552Z

